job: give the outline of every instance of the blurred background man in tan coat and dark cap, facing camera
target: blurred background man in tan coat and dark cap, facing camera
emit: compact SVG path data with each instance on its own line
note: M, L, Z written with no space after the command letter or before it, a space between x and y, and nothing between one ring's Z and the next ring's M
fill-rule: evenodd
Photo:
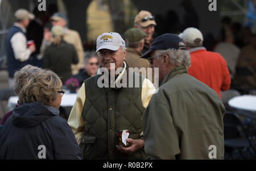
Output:
M67 18L59 12L55 12L55 14L53 14L51 16L51 21L52 21L53 26L61 26L64 28L64 30L63 30L64 38L63 39L65 41L67 41L67 43L74 45L74 47L76 49L77 56L79 57L79 63L76 65L72 64L71 69L72 69L73 75L79 73L79 70L82 67L83 59L84 59L84 49L82 48L82 41L81 41L79 33L75 30L71 30L66 27ZM42 43L40 52L44 53L44 50L46 49L46 47L48 45L50 45L51 43L52 43L51 34L49 31L47 31L45 29L44 30L44 39L43 39L43 43Z

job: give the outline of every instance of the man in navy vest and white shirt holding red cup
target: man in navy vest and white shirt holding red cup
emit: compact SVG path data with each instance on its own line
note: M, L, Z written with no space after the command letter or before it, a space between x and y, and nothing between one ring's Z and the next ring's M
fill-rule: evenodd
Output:
M26 9L18 9L14 13L15 23L6 35L6 55L9 72L9 85L13 88L13 77L15 70L27 65L31 53L35 52L35 44L27 47L26 28L34 15Z

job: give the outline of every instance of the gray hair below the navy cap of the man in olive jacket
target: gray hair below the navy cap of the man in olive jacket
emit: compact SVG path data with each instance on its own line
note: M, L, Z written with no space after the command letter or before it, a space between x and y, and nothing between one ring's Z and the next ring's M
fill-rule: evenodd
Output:
M191 65L190 55L188 51L181 49L156 50L156 55L167 54L170 62L175 66L185 66L188 68Z

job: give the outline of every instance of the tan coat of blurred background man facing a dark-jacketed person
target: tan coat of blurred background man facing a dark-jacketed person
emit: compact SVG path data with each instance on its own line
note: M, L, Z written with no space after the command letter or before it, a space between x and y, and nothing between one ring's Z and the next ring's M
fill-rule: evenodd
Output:
M77 31L71 30L69 28L65 28L64 40L67 41L67 43L74 45L74 47L76 49L77 56L79 57L78 64L76 64L76 65L71 64L72 74L74 75L74 74L79 73L79 69L82 68L82 63L84 61L84 49L82 48L82 41L81 41L79 33ZM52 40L51 40L51 42L52 42ZM42 43L40 52L43 54L46 47L48 47L48 45L50 45L50 44L51 43L47 43L46 40L43 39L43 43Z

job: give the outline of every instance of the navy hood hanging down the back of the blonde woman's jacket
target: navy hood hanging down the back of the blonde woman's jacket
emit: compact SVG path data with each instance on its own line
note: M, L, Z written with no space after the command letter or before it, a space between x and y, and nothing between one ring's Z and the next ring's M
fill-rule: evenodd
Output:
M39 102L25 103L13 110L13 124L20 128L34 127L55 115L59 115L59 109Z

